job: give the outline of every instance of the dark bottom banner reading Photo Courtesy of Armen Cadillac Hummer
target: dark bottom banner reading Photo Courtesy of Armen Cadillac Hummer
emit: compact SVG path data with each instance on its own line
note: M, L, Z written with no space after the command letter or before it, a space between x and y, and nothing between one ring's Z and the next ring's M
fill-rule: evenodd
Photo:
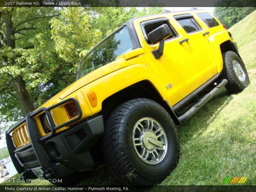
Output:
M109 186L54 186L54 185L1 185L0 191L9 192L82 192L82 191L141 191L141 192L165 192L165 191L192 191L192 192L219 192L219 191L234 191L234 192L244 192L244 191L256 191L256 186L248 185L158 185L158 186L124 186L124 185L109 185Z

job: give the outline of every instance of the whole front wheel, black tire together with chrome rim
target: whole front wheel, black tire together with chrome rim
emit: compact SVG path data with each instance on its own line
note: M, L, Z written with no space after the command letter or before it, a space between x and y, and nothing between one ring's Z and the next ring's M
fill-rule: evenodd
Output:
M119 180L132 185L154 185L177 166L177 130L158 103L134 99L108 117L103 140L105 161Z

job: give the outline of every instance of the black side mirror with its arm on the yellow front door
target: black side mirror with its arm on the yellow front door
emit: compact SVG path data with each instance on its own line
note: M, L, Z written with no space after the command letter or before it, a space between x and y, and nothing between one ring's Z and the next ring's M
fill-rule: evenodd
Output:
M171 29L167 24L163 24L153 31L148 33L148 38L152 44L159 42L159 47L157 50L153 50L152 54L155 59L161 58L164 53L164 39L172 35Z

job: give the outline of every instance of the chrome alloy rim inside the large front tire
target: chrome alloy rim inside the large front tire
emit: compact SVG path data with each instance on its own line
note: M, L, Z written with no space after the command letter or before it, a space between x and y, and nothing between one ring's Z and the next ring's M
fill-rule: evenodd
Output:
M135 124L132 141L137 155L148 164L157 164L166 155L166 133L153 118L144 117Z

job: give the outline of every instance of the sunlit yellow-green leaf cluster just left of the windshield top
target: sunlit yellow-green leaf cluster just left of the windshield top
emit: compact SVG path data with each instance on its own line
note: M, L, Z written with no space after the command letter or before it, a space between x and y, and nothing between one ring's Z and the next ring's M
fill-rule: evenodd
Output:
M92 28L87 13L81 7L64 9L59 19L50 21L56 52L66 62L74 64L73 72L76 72L81 57L84 57L101 37L100 30Z

